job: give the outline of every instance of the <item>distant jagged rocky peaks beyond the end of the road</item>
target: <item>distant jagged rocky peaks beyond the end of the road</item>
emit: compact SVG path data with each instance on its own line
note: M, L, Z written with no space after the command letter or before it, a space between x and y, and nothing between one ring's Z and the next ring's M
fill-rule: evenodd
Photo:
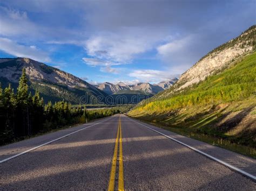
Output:
M107 94L157 94L159 91L168 89L171 87L178 79L174 78L170 81L160 82L158 84L151 83L137 83L133 85L127 85L124 82L118 82L113 84L110 82L104 82L96 85L100 90L105 91Z

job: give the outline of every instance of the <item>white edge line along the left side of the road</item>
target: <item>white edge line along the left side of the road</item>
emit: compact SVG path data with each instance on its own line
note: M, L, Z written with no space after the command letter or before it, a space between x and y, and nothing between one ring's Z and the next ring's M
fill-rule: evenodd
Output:
M5 161L11 160L11 159L13 159L13 158L16 158L16 157L18 157L18 156L20 156L20 155L22 155L22 154L25 154L25 153L28 153L28 152L30 152L30 151L33 151L33 150L35 150L35 149L37 149L37 148L39 148L39 147L42 147L42 146L44 146L44 145L50 144L50 143L52 143L52 142L56 142L56 140L62 139L62 138L64 138L64 137L68 137L68 136L72 135L73 133L76 133L76 132L82 131L82 130L84 130L84 129L90 128L91 126L98 125L99 123L105 122L105 121L107 121L107 120L109 120L109 119L111 119L111 118L107 118L107 119L105 119L104 121L95 123L95 124L90 125L90 126L86 126L86 128L79 129L79 130L77 130L77 131L74 131L74 132L69 133L69 134L67 134L67 135L64 135L64 136L62 136L62 137L59 137L59 138L57 138L57 139L50 140L50 142L44 143L44 144L42 144L42 145L38 145L38 146L36 146L36 147L30 148L29 150L26 150L26 151L23 151L23 152L21 152L21 153L15 154L15 155L13 155L13 156L11 156L11 157L9 157L9 158L0 160L0 164L3 163L3 162L5 162Z

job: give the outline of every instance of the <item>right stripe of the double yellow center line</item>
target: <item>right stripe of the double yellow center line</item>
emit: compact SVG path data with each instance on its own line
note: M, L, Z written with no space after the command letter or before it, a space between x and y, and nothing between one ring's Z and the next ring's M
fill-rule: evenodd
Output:
M123 146L122 146L122 125L121 118L119 118L119 172L118 172L118 190L124 190L124 166L123 166Z

